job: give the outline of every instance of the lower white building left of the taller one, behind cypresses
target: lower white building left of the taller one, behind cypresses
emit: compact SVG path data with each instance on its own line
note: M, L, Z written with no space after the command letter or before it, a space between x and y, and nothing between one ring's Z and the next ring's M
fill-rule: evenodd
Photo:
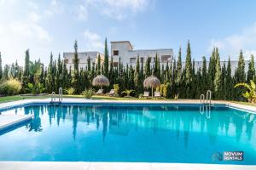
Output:
M88 59L90 59L90 64L97 62L98 56L101 57L101 62L104 61L104 55L97 52L97 51L88 51L88 52L81 52L79 54L79 68L85 68L88 65ZM73 57L74 53L63 53L63 58L66 62L67 69L71 68L73 70Z

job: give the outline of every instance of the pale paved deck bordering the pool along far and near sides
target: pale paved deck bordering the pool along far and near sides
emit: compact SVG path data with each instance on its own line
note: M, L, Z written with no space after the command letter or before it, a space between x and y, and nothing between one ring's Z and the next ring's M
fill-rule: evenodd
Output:
M24 99L0 104L0 110L8 109L19 105L49 103L50 99ZM65 98L62 103L82 103L82 104L200 104L200 100L195 99L178 99L178 100L105 100L105 99L73 99ZM213 105L222 104L235 107L236 109L247 110L256 114L256 107L241 105L226 101L212 101ZM16 116L16 117L15 117ZM1 122L17 122L20 120L19 115L0 115ZM24 117L22 117L24 118ZM16 120L16 121L15 121ZM1 151L1 146L0 146ZM255 158L256 159L256 158ZM62 161L0 161L0 170L256 170L256 166L240 165L218 165L218 164L189 164L189 163L143 163L143 162L62 162Z

